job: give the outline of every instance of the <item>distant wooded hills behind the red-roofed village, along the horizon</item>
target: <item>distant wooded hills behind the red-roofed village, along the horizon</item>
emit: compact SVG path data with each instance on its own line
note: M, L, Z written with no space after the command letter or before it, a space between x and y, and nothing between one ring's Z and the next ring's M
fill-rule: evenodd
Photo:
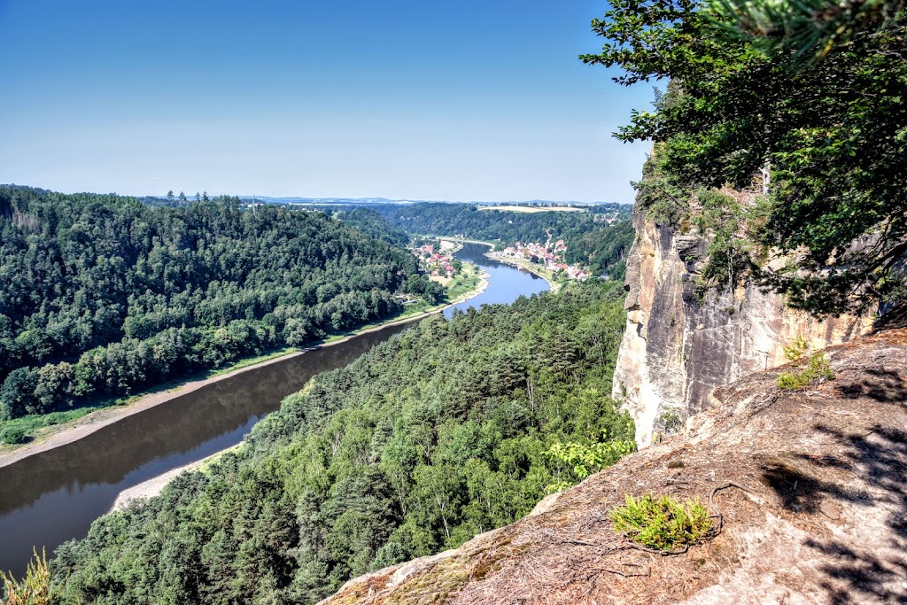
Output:
M634 230L629 222L630 207L622 204L589 206L588 212L514 212L479 210L473 204L417 203L383 204L375 211L407 233L430 236L463 236L467 239L501 242L544 242L563 239L569 263L589 267L593 274L609 273L622 280ZM617 215L609 226L596 222L595 214Z

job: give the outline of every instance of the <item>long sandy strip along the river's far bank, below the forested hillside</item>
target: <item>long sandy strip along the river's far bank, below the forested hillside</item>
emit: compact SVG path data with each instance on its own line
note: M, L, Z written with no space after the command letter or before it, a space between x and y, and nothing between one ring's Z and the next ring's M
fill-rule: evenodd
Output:
M385 327L396 326L398 324L408 323L437 313L441 313L446 308L453 307L453 305L458 305L465 300L477 297L478 295L482 294L485 288L488 288L487 277L487 275L480 274L480 280L476 285L476 288L474 288L470 292L463 294L463 296L455 298L447 305L444 305L444 307L438 307L430 311L425 311L424 313L419 313L409 317L400 317L398 319L386 321L373 327L364 328L358 330L356 333L351 334L350 336L340 338L339 340L326 343L322 346L340 345L351 338L355 338L369 332L375 332L376 330L380 330ZM93 434L94 432L101 430L103 427L109 424L119 422L123 418L134 414L141 414L141 412L144 412L151 407L161 405L165 402L171 401L171 399L175 399L176 397L191 393L192 391L200 389L202 386L214 384L216 382L219 382L220 380L224 380L231 376L237 376L243 372L248 372L249 370L253 370L258 367L268 366L268 364L276 364L278 362L286 361L291 357L305 355L305 353L306 351L288 353L284 356L274 357L258 364L241 367L232 372L219 374L218 376L192 380L166 391L142 395L135 401L132 401L126 405L115 405L112 407L103 408L102 410L98 410L97 412L93 412L92 414L85 415L82 418L73 421L73 423L59 424L53 427L54 430L51 433L39 436L32 443L25 444L22 447L19 447L10 452L6 452L5 454L0 454L0 467L8 466L9 464L15 464L20 460L23 460L24 458L34 454L40 454L41 452L53 450L54 448L62 447L66 444L72 444L73 442L78 441L79 439L82 439L89 434Z

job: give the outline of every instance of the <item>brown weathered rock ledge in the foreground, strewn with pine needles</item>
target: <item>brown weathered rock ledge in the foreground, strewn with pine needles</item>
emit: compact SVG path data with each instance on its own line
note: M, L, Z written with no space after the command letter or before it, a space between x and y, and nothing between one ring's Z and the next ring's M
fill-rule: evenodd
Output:
M686 434L323 603L907 602L907 330L829 353L834 381L782 391L773 370L717 388ZM634 548L609 511L649 492L712 495L721 532L679 555Z

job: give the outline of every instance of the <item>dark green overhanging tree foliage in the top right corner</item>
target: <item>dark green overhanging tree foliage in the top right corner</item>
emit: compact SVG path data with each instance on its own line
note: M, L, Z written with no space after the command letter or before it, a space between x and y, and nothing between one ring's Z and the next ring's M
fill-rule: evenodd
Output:
M615 0L592 22L602 52L581 59L618 65L623 84L670 80L616 135L658 141L646 204L679 224L695 190L765 185L765 225L750 237L786 265L756 280L840 314L902 291L905 23L901 2ZM716 266L739 256L728 243Z

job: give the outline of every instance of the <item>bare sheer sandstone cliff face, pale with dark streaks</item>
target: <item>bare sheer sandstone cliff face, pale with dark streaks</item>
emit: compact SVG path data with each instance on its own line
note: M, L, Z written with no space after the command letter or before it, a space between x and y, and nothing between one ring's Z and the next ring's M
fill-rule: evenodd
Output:
M699 301L693 281L706 240L646 220L639 204L633 222L627 328L613 395L636 420L640 447L678 432L688 417L707 409L716 386L786 363L784 346L795 337L821 348L872 327L870 317L819 321L753 285Z

